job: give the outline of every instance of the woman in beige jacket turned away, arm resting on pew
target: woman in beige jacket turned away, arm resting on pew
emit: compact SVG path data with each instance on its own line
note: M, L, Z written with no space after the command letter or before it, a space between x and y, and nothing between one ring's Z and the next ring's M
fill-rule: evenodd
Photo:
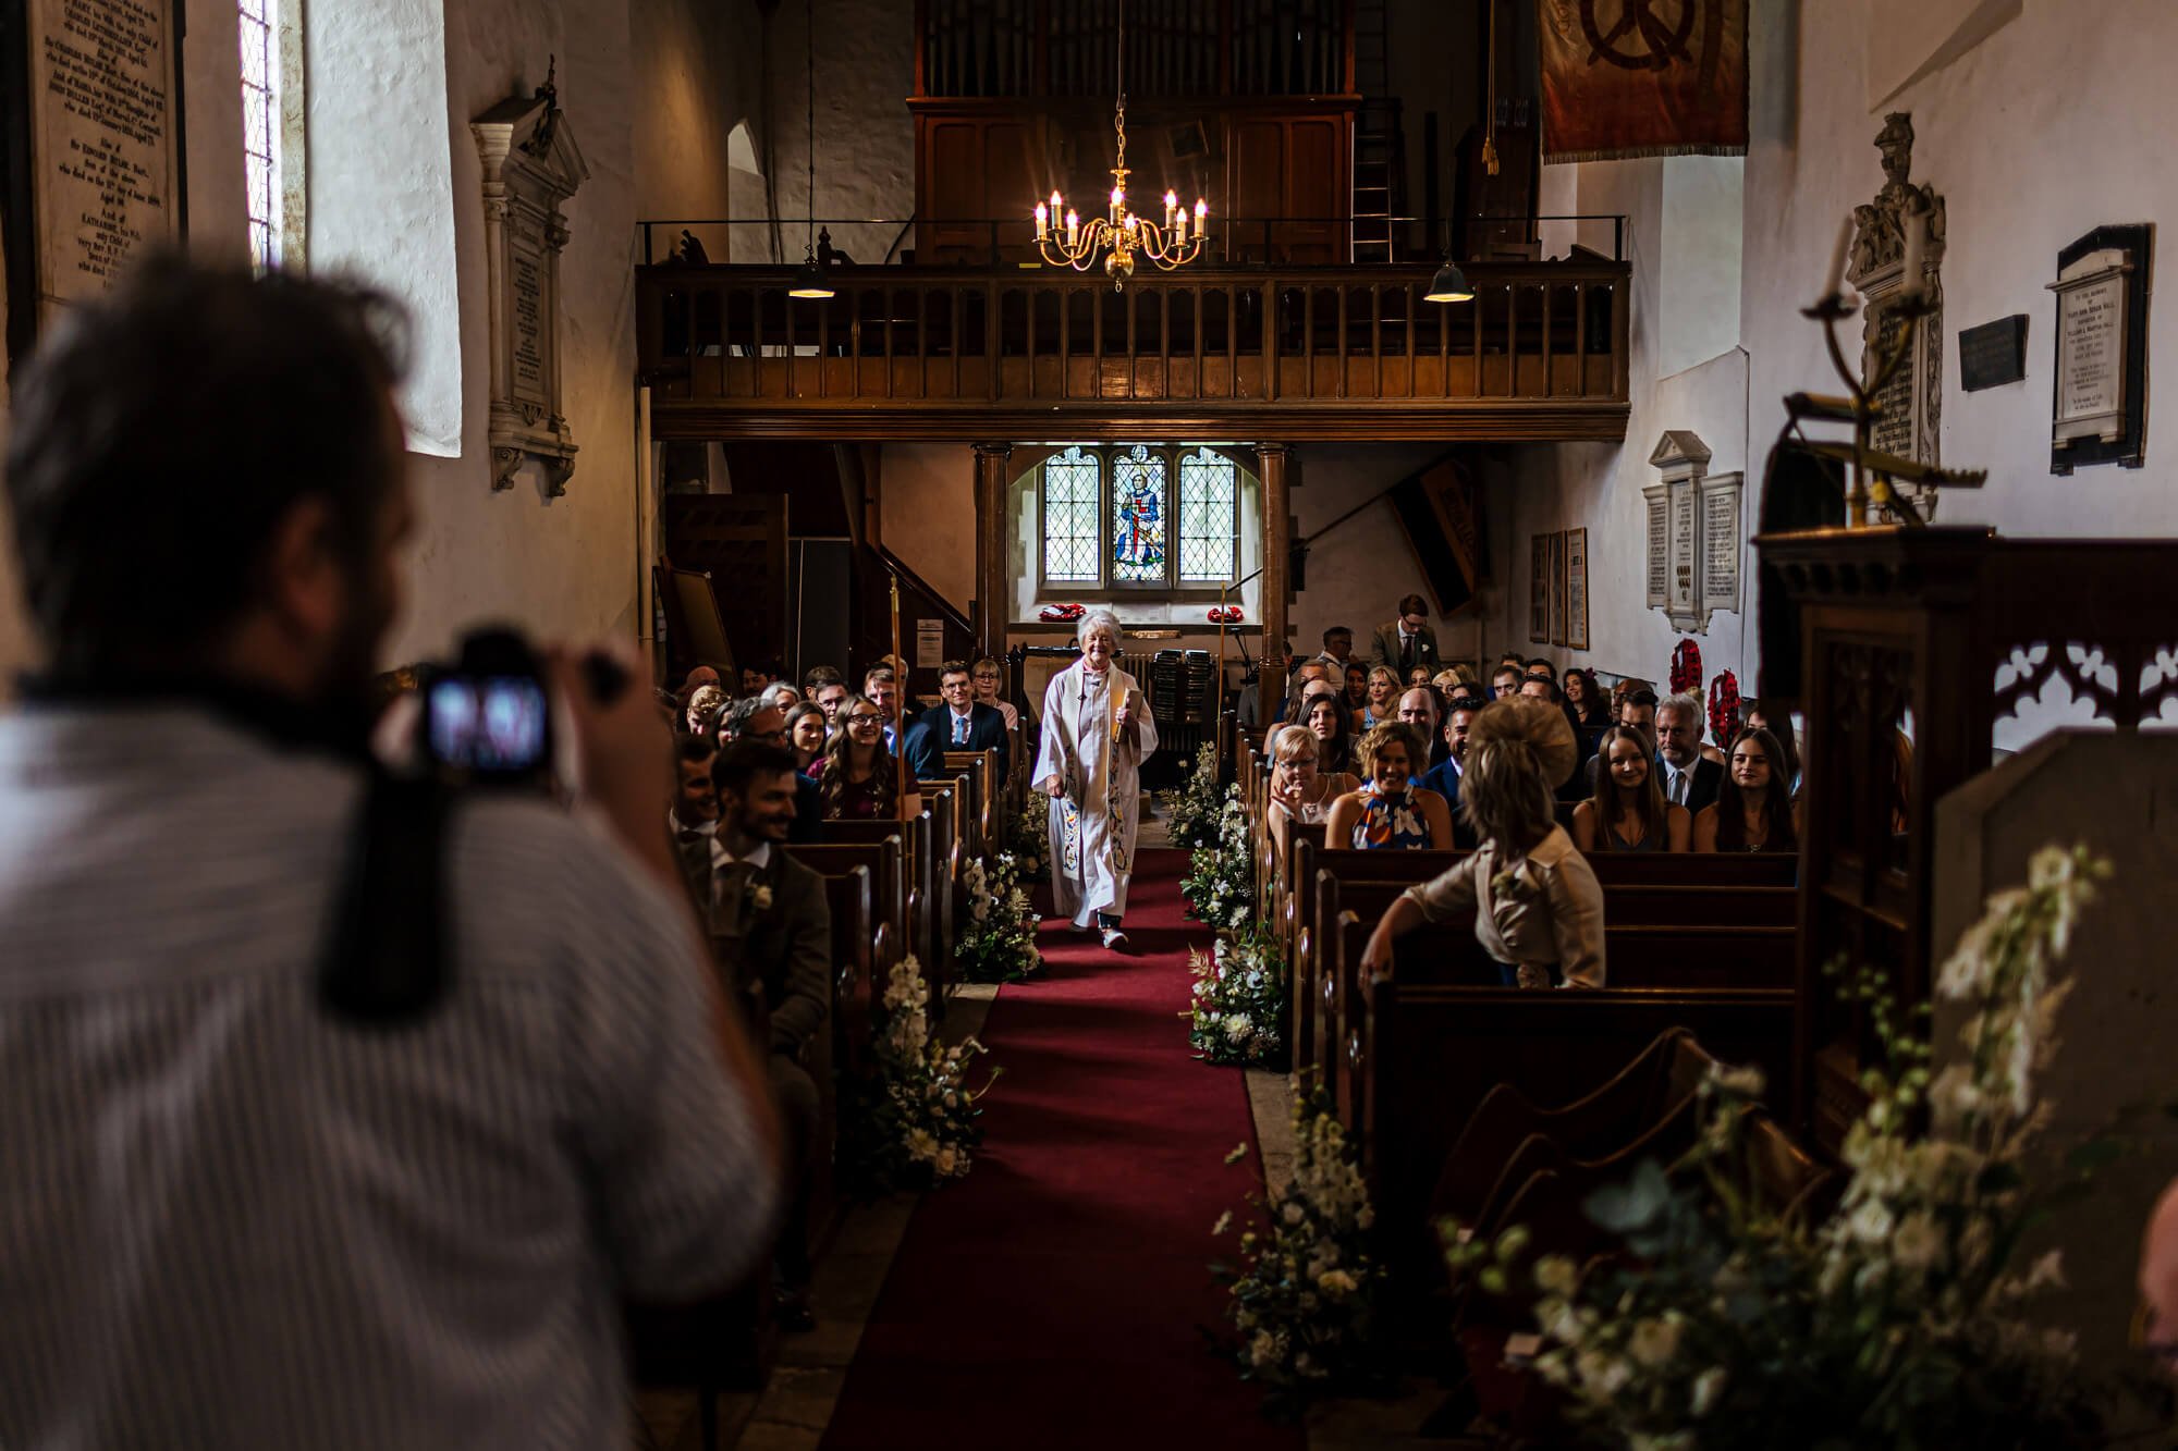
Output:
M1361 950L1361 972L1390 978L1392 943L1403 935L1472 913L1475 939L1507 985L1603 987L1603 889L1551 804L1551 782L1570 771L1564 710L1501 699L1475 717L1459 813L1481 845L1392 902Z

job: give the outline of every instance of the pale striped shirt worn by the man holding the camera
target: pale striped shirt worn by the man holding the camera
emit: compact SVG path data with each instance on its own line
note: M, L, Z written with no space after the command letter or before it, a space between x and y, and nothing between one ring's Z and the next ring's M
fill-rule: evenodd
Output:
M0 719L0 1447L625 1440L619 1301L778 1185L684 913L464 804L425 1022L316 1000L362 776L185 708Z

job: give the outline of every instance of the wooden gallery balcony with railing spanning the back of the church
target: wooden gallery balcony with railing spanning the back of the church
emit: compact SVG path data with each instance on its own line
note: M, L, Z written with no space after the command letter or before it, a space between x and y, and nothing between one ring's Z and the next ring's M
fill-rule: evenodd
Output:
M680 227L677 222L671 227ZM671 235L671 233L669 233ZM1276 253L1276 248L1268 248ZM658 438L1623 440L1629 266L636 268Z

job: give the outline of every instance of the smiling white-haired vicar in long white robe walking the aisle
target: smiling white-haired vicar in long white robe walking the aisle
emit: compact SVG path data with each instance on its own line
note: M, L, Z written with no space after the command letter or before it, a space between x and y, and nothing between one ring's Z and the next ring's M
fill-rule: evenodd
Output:
M1078 634L1082 658L1043 691L1037 791L1052 797L1052 898L1074 930L1126 943L1126 878L1141 834L1141 763L1157 749L1157 721L1141 684L1119 669L1119 619L1091 610Z

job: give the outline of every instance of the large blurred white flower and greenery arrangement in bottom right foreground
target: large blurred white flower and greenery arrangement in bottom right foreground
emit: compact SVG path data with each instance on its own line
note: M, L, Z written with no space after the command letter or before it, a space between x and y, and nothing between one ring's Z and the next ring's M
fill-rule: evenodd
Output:
M2084 848L2045 848L2026 887L1989 898L1936 978L1945 1017L1962 1017L1960 1054L1941 1072L1919 1031L1925 1004L1901 1017L1880 974L1851 978L1845 996L1888 1068L1864 1076L1869 1107L1825 1220L1764 1203L1742 1133L1760 1072L1712 1070L1686 1159L1644 1161L1583 1205L1625 1255L1527 1264L1525 1227L1492 1242L1448 1222L1455 1279L1527 1301L1531 1275L1531 1364L1612 1442L2108 1444L2126 1386L2082 1373L2069 1333L2028 1320L2034 1292L2063 1283L2058 1253L2019 1264L2049 1209L2119 1153L2091 1139L2028 1183L2047 1120L2034 1074L2069 987L2054 965L2108 871Z

